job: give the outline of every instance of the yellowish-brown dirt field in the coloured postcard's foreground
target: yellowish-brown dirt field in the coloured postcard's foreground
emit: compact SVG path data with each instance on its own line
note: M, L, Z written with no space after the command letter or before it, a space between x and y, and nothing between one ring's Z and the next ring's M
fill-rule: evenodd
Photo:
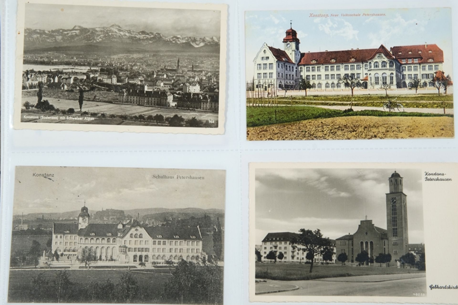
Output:
M451 138L451 117L349 116L247 128L247 140Z

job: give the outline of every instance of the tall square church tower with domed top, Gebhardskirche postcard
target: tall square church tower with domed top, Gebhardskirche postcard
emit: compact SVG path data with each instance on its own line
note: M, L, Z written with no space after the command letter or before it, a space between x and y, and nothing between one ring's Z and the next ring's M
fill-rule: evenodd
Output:
M396 171L388 178L387 196L388 249L392 261L409 252L407 225L407 195L403 192L403 177Z

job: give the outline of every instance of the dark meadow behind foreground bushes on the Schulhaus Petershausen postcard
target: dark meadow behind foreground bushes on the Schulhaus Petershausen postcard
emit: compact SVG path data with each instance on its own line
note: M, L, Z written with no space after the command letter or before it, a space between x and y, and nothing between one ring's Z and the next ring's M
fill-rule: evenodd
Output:
M36 277L40 272L43 272L45 279L52 281L57 271L10 270L8 302L22 302L24 297L27 297L24 295L25 292L31 291L31 279ZM117 283L120 276L125 273L125 271L118 270L68 270L67 272L70 275L69 280L78 283L75 286L87 285L91 281L104 283L107 279L110 279L113 283ZM142 299L146 296L140 295L140 300L136 300L135 303L162 303L159 302L161 300L160 296L164 289L164 284L170 278L170 275L147 272L130 272L129 274L136 278L140 289L148 291L147 299ZM78 300L74 300L74 302L78 302Z

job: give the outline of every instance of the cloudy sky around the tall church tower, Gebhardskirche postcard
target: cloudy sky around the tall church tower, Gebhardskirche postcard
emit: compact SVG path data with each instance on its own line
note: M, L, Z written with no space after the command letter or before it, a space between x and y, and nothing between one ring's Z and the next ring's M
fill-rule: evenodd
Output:
M361 220L387 228L388 178L394 169L256 169L256 244L268 232L320 229L353 234ZM407 195L409 243L424 242L421 171L400 169Z

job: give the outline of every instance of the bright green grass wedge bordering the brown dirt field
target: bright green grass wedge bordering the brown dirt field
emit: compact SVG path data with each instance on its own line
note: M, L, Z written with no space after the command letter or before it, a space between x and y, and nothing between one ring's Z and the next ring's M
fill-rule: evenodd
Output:
M313 106L247 107L246 126L262 126L288 123L310 119L331 118L338 116L450 116L452 114L431 114L420 112L388 112L380 110L361 110L345 113L343 110L326 109Z

